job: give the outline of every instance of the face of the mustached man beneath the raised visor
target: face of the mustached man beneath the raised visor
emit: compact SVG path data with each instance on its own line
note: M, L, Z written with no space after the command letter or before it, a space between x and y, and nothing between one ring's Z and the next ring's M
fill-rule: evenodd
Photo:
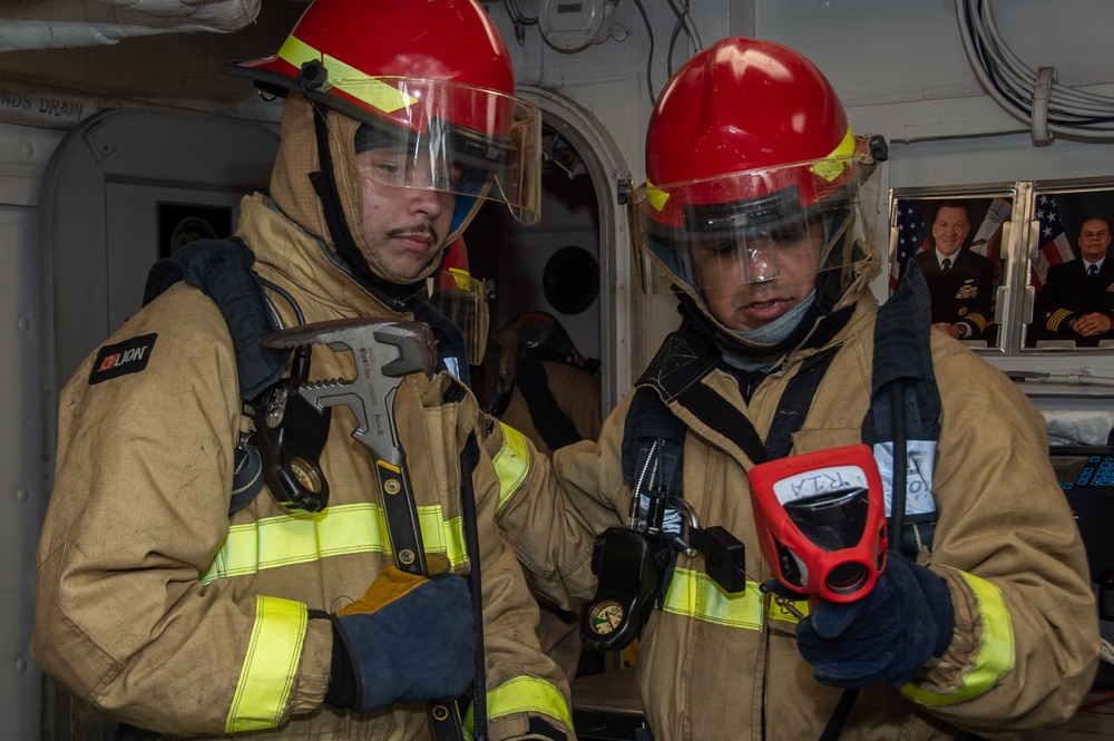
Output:
M427 187L399 187L388 183L429 186L423 163L414 167L398 149L381 148L355 156L363 194L363 234L372 264L392 283L412 283L441 251L452 224L456 196ZM411 170L405 168L410 167ZM428 172L428 166L426 167Z

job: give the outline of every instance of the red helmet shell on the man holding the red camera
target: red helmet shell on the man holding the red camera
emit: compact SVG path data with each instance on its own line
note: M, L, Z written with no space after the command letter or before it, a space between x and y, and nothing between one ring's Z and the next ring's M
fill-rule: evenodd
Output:
M736 199L795 185L807 206L846 179L849 163L841 158L853 149L843 106L811 61L778 43L735 37L692 59L662 91L646 134L646 178L652 187L732 175ZM829 170L763 175L830 158ZM663 217L680 223L675 205Z

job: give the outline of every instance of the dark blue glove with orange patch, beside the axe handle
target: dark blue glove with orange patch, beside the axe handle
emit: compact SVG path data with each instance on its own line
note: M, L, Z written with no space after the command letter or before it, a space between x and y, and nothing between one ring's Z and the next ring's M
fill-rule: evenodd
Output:
M325 704L365 713L394 702L461 694L476 670L472 602L465 579L428 579L389 566L334 615Z

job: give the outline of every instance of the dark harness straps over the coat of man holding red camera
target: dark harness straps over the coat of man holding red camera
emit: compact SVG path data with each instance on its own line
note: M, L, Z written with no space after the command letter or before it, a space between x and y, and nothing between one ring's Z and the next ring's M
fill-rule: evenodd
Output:
M813 338L819 345L842 328L853 308L829 318L823 337ZM871 371L871 406L862 422L862 441L873 447L874 458L887 491L888 514L891 503L898 503L903 515L903 549L916 555L920 547L931 548L937 518L931 494L936 443L940 431L940 396L932 369L929 332L931 331L930 295L916 266L907 271L895 294L879 308L874 325L874 353ZM766 439L763 441L751 421L724 400L703 379L723 365L722 353L704 334L687 321L668 335L636 382L623 438L623 474L634 486L638 472L646 470L651 450L675 465L661 467L664 477L659 488L670 500L683 496L681 472L686 428L671 411L668 403L691 412L714 433L722 445L737 447L754 464L782 458L790 454L792 436L804 423L815 392L841 345L834 344L810 355L790 379L779 401ZM895 413L892 391L897 388L905 399L903 420L899 431L893 423L902 415ZM895 451L895 441L900 450ZM655 448L655 442L657 447ZM897 455L895 455L897 452ZM906 459L907 460L903 460ZM901 469L896 471L897 468ZM901 476L903 471L906 476ZM896 475L896 472L898 475ZM903 486L901 479L905 479ZM893 484L898 481L898 495ZM902 505L903 503L903 505ZM666 516L666 523L670 517ZM661 594L668 587L668 579Z

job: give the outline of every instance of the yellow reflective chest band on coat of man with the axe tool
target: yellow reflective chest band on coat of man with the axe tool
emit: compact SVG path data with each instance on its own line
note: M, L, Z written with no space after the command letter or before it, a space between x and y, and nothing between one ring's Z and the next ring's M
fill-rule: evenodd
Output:
M465 563L459 517L446 520L440 505L432 505L418 507L418 520L427 553L442 553L452 565ZM316 514L291 513L234 525L202 583L350 553L391 554L387 517L379 504L339 505Z

